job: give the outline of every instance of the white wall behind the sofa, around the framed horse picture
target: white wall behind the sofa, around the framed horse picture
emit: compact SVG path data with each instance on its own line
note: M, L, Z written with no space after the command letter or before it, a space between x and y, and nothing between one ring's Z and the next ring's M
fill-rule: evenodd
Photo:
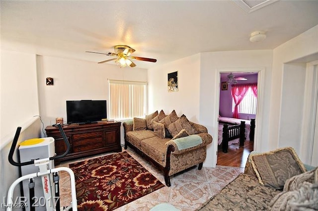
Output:
M178 71L178 92L168 92L167 74ZM199 122L200 54L185 57L148 71L149 113L173 109L178 116L186 115Z

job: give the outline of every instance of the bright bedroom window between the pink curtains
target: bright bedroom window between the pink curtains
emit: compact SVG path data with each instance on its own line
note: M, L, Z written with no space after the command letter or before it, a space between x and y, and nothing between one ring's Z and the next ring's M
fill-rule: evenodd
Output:
M232 102L232 111L234 112L235 102L234 100ZM249 87L246 95L238 106L239 113L256 114L256 103L257 98L253 94L251 87Z

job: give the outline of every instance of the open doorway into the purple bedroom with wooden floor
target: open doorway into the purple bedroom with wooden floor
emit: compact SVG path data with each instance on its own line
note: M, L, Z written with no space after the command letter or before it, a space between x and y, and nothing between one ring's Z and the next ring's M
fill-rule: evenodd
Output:
M234 78L231 79L233 76ZM258 72L221 72L220 79L221 88L219 95L219 132L217 165L244 168L249 153L254 150L254 141L253 138L249 137L249 132L250 120L252 118L256 118L256 104L258 102L258 98L257 94L256 96L253 94L251 90L252 88L249 88L248 92L246 92L243 98L243 101L240 103L241 110L239 111L239 119L232 119L235 103L233 102L231 90L232 86L257 84ZM223 121L240 122L240 120L244 120L246 122L244 146L239 146L239 139L234 139L229 142L228 151L224 152L224 150L222 149L222 132L224 125ZM231 125L229 124L229 126Z

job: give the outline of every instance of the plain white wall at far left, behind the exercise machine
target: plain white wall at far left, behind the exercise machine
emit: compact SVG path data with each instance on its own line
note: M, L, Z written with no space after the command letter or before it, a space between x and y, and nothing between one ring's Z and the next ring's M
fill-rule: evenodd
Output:
M39 114L35 55L1 50L0 146Z

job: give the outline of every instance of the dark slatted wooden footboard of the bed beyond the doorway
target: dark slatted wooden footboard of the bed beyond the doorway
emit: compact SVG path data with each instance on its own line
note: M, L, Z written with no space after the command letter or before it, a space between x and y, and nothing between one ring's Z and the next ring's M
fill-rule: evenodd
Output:
M237 144L244 146L245 141L245 121L240 124L219 124L219 140L218 145L222 147L223 152L228 152L229 144Z

